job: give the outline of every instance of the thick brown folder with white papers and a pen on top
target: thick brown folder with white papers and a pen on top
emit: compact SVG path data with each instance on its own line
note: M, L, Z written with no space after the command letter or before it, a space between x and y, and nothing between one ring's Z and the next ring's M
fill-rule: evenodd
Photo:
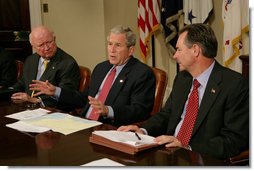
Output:
M140 139L139 139L139 138ZM150 149L159 144L155 143L154 137L134 132L121 132L115 130L94 131L89 141L94 144L109 147L128 154L136 154L140 151Z

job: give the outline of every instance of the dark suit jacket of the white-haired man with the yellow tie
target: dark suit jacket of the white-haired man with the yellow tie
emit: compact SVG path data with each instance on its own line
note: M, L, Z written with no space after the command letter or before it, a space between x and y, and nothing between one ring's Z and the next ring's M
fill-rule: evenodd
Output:
M32 93L29 90L29 84L32 80L36 79L39 58L40 56L37 53L27 57L24 63L22 77L13 86L14 89L25 91L29 95ZM80 81L79 66L72 56L58 48L55 56L50 59L40 80L48 80L51 84L61 88L78 90ZM45 106L57 106L57 101L52 97L46 95L40 97ZM58 107L61 108L60 106ZM67 110L68 108L65 106L61 109Z

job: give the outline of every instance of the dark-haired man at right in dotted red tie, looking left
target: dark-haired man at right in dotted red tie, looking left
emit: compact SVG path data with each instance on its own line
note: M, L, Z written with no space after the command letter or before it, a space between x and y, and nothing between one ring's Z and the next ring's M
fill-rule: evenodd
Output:
M214 59L217 47L208 25L183 28L174 54L180 72L165 107L141 128L128 125L118 130L157 136L155 141L166 147L182 147L220 159L248 149L248 82Z

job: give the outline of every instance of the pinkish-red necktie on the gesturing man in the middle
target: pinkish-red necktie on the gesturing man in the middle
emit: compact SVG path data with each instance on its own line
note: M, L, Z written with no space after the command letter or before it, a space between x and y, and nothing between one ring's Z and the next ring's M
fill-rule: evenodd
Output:
M116 67L114 67L110 71L108 77L106 78L106 80L104 82L103 87L101 88L100 94L98 96L98 100L100 100L102 103L104 103L107 98L108 92L109 92L111 85L114 81L115 75L116 75ZM96 113L96 109L92 109L92 111L89 115L89 119L98 120L99 117L100 117L100 115Z

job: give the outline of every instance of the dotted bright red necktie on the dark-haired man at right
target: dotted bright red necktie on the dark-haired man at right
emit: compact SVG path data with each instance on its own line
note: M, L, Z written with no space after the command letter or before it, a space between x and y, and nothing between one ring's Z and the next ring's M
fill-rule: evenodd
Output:
M198 87L200 83L194 79L193 90L190 94L189 101L186 107L186 114L184 117L183 124L177 134L177 139L181 141L183 145L188 145L194 123L198 114Z

